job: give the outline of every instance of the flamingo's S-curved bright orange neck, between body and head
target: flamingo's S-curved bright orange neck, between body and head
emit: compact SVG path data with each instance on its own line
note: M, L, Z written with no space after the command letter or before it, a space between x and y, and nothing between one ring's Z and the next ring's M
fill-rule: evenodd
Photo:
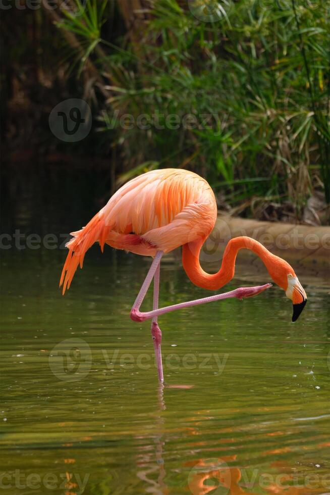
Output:
M236 256L240 249L249 249L259 256L274 282L281 285L279 280L276 280L278 277L273 270L273 264L278 257L272 255L257 240L245 236L235 237L228 242L224 252L221 268L217 273L206 273L199 263L199 254L204 240L205 239L198 239L193 242L188 242L183 245L182 251L182 263L185 272L190 280L198 287L217 290L228 283L234 277Z

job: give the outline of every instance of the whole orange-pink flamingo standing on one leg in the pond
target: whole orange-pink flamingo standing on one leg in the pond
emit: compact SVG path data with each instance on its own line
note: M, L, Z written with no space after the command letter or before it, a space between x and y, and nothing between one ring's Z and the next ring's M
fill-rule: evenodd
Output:
M190 280L198 287L218 290L234 277L238 251L249 249L261 258L272 280L291 299L292 321L297 320L306 304L306 293L289 263L271 254L260 242L250 237L231 239L219 271L206 273L200 266L199 253L214 227L216 215L214 193L205 179L187 170L152 170L124 184L85 227L71 233L73 238L67 243L69 253L60 280L63 294L70 287L78 265L82 268L85 253L94 242L99 242L102 252L104 244L108 244L116 249L153 258L130 316L137 322L152 320L151 335L161 383L163 370L158 316L211 301L247 298L271 286L271 283L266 283L240 287L203 299L158 308L159 269L164 254L182 246L183 267ZM152 279L153 309L141 312L140 307Z

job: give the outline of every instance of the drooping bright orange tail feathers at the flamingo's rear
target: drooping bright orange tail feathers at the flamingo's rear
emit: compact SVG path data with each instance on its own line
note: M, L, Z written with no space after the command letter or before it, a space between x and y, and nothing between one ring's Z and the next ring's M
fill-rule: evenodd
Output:
M97 213L81 230L71 232L71 235L74 237L66 244L69 253L60 280L60 287L63 284L63 294L66 289L69 289L78 265L82 268L85 253L94 242L99 241L101 250L103 251L108 231L109 227L105 226L103 215Z

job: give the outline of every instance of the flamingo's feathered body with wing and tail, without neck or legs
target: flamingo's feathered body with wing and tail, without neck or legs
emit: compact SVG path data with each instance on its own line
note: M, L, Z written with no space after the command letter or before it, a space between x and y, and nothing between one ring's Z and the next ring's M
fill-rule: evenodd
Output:
M123 185L81 230L71 232L63 293L94 242L143 256L203 241L216 220L214 193L205 179L181 169L152 170Z

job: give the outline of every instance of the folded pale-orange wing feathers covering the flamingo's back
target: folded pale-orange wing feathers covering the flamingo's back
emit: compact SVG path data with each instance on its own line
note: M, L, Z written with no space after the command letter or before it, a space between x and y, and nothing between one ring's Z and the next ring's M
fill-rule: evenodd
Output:
M171 237L179 240L181 233L182 239L186 238L197 224L199 229L203 224L202 231L209 233L215 222L216 203L202 177L186 170L163 169L129 181L102 211L105 225L112 231L134 232L153 245L164 242L167 249Z

